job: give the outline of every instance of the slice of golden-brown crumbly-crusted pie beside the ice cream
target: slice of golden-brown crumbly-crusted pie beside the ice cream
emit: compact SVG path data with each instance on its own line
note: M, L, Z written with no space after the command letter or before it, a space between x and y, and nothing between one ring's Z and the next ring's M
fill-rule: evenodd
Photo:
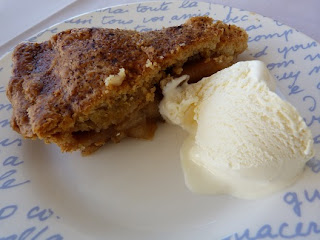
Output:
M22 43L7 88L12 128L84 155L110 139L151 138L160 119L160 82L183 73L186 62L227 67L247 39L239 27L194 17L145 33L81 28Z

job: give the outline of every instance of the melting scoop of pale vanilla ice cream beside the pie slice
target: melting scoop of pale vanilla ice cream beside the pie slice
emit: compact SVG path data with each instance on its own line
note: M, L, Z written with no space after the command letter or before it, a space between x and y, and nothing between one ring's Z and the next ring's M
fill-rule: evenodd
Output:
M198 83L167 84L160 113L189 132L181 148L187 186L252 199L292 184L313 156L298 111L276 93L261 61L239 62Z

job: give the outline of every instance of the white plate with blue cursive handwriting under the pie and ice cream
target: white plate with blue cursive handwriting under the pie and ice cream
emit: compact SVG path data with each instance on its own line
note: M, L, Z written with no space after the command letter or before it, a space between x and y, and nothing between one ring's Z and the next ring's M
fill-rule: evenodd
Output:
M260 15L200 2L113 7L69 19L29 39L73 27L145 31L209 15L244 27L249 48L312 129L317 156L301 180L272 196L245 201L187 190L179 148L185 134L161 124L154 140L126 139L90 157L22 140L7 123L10 53L0 61L0 239L319 239L320 46Z

